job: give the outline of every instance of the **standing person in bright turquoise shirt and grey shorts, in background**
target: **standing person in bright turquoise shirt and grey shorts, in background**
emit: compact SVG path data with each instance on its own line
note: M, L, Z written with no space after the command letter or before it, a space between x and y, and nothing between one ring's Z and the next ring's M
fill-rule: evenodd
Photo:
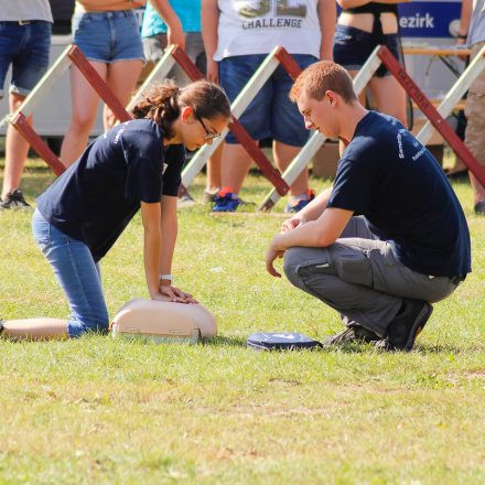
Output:
M201 0L159 0L148 3L141 36L147 61L157 64L168 45L179 44L198 69L206 73L206 56L201 32ZM186 75L176 64L171 75L175 77L177 84L186 84ZM207 162L205 202L212 201L220 188L220 154L222 147ZM192 201L188 193L182 195L182 198Z

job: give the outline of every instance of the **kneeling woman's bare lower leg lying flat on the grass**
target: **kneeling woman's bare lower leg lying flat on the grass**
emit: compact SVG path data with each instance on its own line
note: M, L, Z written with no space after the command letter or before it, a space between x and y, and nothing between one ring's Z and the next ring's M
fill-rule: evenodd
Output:
M68 338L67 320L25 319L3 322L2 336L9 340L47 341Z

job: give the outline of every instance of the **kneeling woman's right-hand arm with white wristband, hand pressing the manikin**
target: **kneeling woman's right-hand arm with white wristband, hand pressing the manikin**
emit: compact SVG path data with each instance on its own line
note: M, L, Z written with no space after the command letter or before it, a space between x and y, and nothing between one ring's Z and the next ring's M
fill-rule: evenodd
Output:
M172 260L175 250L175 241L177 235L177 217L176 217L177 197L163 195L161 204L161 239L162 248L159 260L159 273L172 274ZM171 298L172 301L181 303L196 303L190 293L185 293L172 284L171 280L160 280L160 292Z

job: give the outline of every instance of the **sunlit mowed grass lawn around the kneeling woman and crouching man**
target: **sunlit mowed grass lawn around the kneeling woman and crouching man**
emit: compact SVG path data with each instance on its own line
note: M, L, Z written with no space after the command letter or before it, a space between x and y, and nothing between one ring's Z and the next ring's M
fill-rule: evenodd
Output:
M30 161L28 200L51 181ZM255 202L269 187L255 175L247 186ZM176 284L214 312L219 336L205 345L0 341L0 484L484 483L485 218L473 214L468 184L455 190L474 271L435 305L410 354L248 349L258 331L324 338L341 330L338 315L266 273L282 217L181 209ZM67 316L30 219L0 213L0 317ZM101 270L111 315L147 298L139 216Z

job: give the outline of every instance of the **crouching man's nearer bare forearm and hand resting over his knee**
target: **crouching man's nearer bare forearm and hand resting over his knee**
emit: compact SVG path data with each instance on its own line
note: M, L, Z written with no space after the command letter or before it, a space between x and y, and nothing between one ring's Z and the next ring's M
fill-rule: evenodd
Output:
M352 211L330 207L316 219L295 227L293 230L277 234L266 254L266 269L273 276L280 278L281 274L274 269L274 259L281 258L287 249L300 246L319 248L333 245L348 220L353 216Z

